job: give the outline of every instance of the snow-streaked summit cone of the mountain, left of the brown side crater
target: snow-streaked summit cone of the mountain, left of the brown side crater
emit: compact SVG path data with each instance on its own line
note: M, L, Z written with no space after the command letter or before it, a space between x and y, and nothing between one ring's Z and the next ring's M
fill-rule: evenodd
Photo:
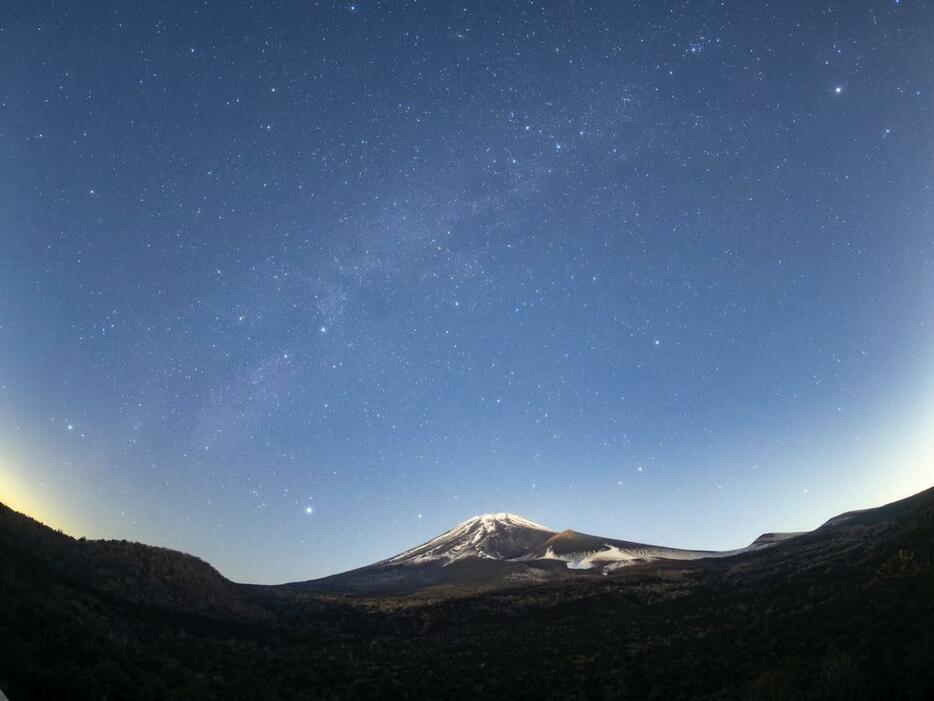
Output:
M382 564L446 564L471 557L514 560L528 555L554 534L552 529L515 514L481 514Z

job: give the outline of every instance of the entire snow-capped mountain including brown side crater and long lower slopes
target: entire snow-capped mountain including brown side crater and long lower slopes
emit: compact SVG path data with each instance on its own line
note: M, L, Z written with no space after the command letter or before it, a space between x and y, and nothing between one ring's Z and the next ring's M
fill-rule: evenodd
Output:
M733 557L773 547L796 535L767 533L738 550L682 550L572 530L559 533L510 513L481 514L373 565L289 586L373 594L539 582L586 573L606 575L651 562Z

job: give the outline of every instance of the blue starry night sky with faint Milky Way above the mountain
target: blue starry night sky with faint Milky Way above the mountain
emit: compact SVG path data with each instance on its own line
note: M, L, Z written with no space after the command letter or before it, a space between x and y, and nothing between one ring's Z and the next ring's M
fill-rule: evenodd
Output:
M934 6L13 2L0 501L240 581L934 483Z

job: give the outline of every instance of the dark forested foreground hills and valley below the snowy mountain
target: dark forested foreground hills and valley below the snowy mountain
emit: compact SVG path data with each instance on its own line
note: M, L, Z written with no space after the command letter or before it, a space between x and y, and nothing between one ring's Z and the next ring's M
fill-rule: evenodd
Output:
M231 583L0 507L26 699L934 698L934 490L770 549L361 598Z

